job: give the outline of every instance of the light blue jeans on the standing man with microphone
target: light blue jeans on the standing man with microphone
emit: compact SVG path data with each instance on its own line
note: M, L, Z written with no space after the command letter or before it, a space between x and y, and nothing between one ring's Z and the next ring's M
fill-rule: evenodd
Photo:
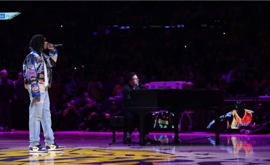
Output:
M45 137L45 145L49 146L54 143L53 131L51 128L50 100L48 90L40 93L40 102L34 102L30 92L31 103L29 106L29 136L30 146L39 145L40 121Z

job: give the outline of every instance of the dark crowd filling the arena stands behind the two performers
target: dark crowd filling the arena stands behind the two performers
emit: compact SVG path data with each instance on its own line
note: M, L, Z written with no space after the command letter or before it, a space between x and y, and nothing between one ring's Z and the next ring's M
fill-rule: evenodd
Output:
M147 10L151 6L151 2L147 2L143 12L136 12L140 2L125 3L122 13L126 15L114 13L114 19L103 19L104 16L87 19L85 15L78 21L64 18L62 25L56 18L49 22L44 16L41 17L43 23L31 24L36 28L22 25L21 29L15 29L16 23L23 24L18 16L5 27L1 25L5 33L0 39L4 39L5 49L0 52L0 69L6 69L8 79L18 79L17 84L22 85L19 72L30 51L29 41L33 35L41 33L48 42L64 44L57 48L58 61L49 89L53 129L109 130L108 114L120 112L114 105L114 110L107 112L104 100L121 95L121 89L127 84L124 77L129 72L136 72L143 84L186 81L194 83L195 89L222 89L225 97L270 95L269 28L263 2L257 4L255 14L250 14L252 2L245 5L230 2L225 6L211 2L215 6L213 10L211 5L201 2L183 2L182 5L178 2L174 10L157 3ZM62 12L68 7L62 8ZM52 8L51 12L57 10ZM114 20L119 26L121 23L136 26L120 29L110 22L109 27L104 23L106 20ZM151 24L163 27L154 28ZM184 27L164 28L176 24ZM12 82L14 84L16 82ZM10 98L2 91L0 95L1 105L11 104L12 123L21 123L21 118L27 123L27 90L15 86ZM18 129L27 129L24 125L18 124Z

